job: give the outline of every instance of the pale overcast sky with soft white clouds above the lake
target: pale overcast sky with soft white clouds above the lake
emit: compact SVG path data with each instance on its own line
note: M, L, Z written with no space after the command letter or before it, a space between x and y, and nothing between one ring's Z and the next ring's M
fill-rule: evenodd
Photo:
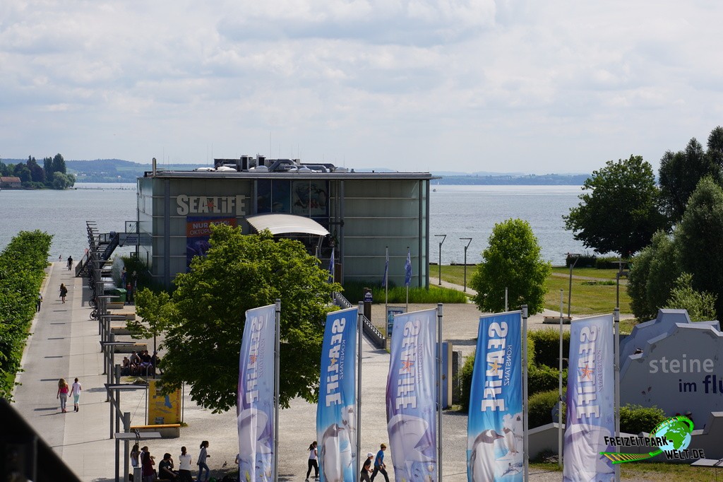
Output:
M0 158L657 169L723 124L719 0L7 0Z

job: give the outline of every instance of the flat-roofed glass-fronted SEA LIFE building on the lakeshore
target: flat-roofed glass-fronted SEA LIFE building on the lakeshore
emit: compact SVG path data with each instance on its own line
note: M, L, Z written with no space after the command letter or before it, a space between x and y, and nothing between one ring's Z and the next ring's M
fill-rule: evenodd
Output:
M409 253L410 285L428 287L432 178L428 172L354 172L263 156L215 159L213 168L194 171L163 171L154 163L138 179L138 255L153 279L168 286L208 249L210 224L249 234L255 232L249 218L286 214L306 222L299 223L300 232L284 235L304 242L323 266L333 250L337 281L381 282L388 250L390 284L403 286ZM329 234L311 234L315 230L304 224Z

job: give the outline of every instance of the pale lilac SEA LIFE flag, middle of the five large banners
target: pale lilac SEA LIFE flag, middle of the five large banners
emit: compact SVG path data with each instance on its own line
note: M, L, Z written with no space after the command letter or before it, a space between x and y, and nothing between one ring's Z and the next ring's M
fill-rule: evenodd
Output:
M437 481L437 310L394 317L387 430L397 481Z

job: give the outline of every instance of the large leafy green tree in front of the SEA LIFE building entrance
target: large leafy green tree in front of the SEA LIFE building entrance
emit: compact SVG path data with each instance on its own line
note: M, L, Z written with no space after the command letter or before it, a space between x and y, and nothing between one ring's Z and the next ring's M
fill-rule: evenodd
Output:
M236 405L239 352L245 313L281 299L280 403L314 402L320 375L330 295L341 289L304 245L274 240L268 231L244 236L218 226L205 257L176 276L174 309L164 342L163 384L192 386L199 405L222 412Z

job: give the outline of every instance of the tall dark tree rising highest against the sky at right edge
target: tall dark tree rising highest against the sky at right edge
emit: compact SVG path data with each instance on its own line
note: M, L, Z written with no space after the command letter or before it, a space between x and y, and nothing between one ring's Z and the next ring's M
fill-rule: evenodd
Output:
M715 146L717 135L714 132L711 132L714 136L711 143ZM711 176L719 181L721 166L716 164L715 151L714 147L711 154L706 155L703 146L696 138L692 138L685 146L685 151L667 151L660 159L658 177L662 206L672 223L677 223L683 217L688 199L703 177Z

